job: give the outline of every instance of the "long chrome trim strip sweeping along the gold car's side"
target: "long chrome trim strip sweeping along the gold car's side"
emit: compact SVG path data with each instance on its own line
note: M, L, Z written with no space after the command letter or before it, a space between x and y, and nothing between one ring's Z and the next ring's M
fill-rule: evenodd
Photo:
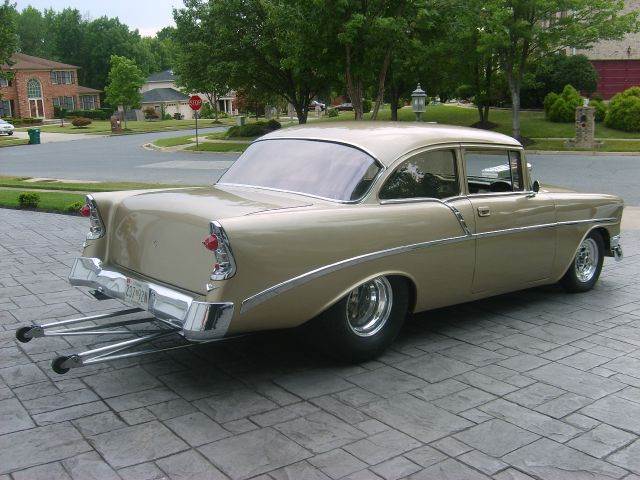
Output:
M435 200L435 201L439 201L439 200ZM290 278L289 280L285 280L284 282L273 285L272 287L269 287L265 290L262 290L261 292L258 292L255 295L252 295L251 297L248 297L242 301L242 305L240 307L240 313L241 314L247 313L252 308L255 308L257 305L263 302L266 302L267 300L275 297L276 295L289 291L300 285L304 285L305 283L308 283L311 280L314 280L316 278L322 277L324 275L328 275L338 270L342 270L343 268L352 267L354 265L358 265L371 260L377 260L377 259L388 257L391 255L398 255L400 253L411 252L411 251L419 250L422 248L448 245L452 243L464 242L467 240L475 240L478 238L509 235L512 233L542 230L546 228L554 228L554 227L561 227L561 226L581 225L581 224L590 224L590 223L607 224L607 223L612 223L616 221L617 219L615 217L593 218L588 220L569 220L569 221L554 222L554 223L544 223L540 225L529 225L526 227L506 228L502 230L494 230L491 232L481 232L481 233L469 232L469 234L465 234L465 235L443 238L439 240L430 240L428 242L420 242L420 243L414 243L410 245L402 245L399 247L387 248L387 249L379 250L376 252L366 253L364 255L358 255L357 257L347 258L345 260L340 260L339 262L335 262L329 265L325 265L323 267L316 268L309 272Z

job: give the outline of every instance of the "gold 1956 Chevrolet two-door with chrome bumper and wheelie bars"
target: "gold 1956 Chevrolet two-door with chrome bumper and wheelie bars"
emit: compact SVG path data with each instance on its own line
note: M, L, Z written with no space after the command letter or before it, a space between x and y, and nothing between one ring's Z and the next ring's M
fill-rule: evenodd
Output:
M132 308L17 337L96 334L97 320L146 311L157 331L59 357L54 370L167 333L205 342L303 324L332 354L365 360L413 312L555 282L590 290L604 257L622 258L622 209L611 195L541 189L520 143L493 132L287 128L212 187L87 197L90 231L69 281Z

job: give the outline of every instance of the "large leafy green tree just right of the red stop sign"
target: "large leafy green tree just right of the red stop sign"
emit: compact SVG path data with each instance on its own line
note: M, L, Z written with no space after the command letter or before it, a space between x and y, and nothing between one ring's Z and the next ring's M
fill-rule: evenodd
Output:
M180 37L193 29L204 45L202 62L224 66L229 86L279 96L290 102L300 123L309 103L332 84L328 48L334 42L318 27L320 0L186 0L174 11Z

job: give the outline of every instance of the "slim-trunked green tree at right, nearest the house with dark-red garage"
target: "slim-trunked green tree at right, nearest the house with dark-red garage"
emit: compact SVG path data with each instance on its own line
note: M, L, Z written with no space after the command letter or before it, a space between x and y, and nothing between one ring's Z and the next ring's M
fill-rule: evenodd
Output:
M512 130L520 138L520 91L527 67L565 48L589 48L601 39L637 31L638 12L623 0L486 0L482 42L499 56L512 104Z

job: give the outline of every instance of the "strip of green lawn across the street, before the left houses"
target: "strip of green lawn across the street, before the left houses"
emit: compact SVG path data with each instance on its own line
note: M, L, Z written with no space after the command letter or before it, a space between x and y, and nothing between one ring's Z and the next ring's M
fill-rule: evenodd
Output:
M214 120L202 118L198 120L198 128L208 128L208 127L219 127L224 125L232 124L231 119L221 120L223 122L214 123ZM194 129L196 126L195 120L142 120L142 121L127 121L127 128L123 127L123 134L131 134L131 133L146 133L146 132L163 132L163 131L171 131L171 130L190 130ZM61 127L60 124L53 125L42 125L35 126L36 128L40 128L43 132L54 132L54 133L93 133L93 134L110 134L111 133L111 123L108 120L93 120L91 125L87 127L74 127L71 125L71 122L65 120L64 127ZM21 130L26 130L27 127L22 128ZM30 127L29 127L30 128Z

